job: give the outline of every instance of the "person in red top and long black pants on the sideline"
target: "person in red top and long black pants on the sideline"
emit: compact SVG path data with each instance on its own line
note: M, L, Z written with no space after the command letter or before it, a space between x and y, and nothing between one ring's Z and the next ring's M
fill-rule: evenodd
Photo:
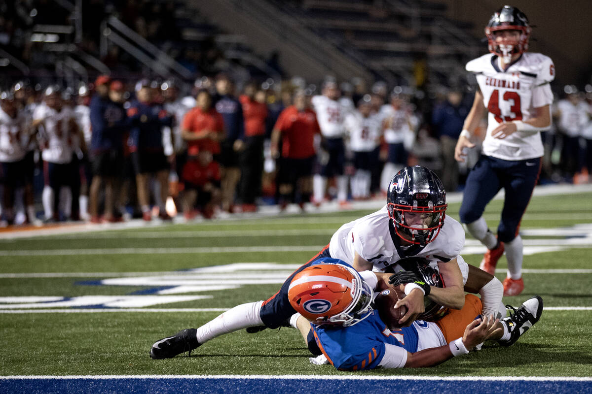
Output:
M244 148L240 152L241 171L240 199L243 212L257 210L255 199L260 195L263 172L263 140L265 139L265 119L268 109L265 92L258 90L255 83L244 87L244 95L239 98L243 106Z

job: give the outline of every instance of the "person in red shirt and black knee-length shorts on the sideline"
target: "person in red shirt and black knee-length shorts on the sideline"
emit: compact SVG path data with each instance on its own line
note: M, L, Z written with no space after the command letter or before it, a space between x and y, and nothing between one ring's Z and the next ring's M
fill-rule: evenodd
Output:
M280 206L284 210L288 201L304 203L313 191L314 135L320 135L317 116L311 109L310 95L304 90L294 93L294 105L279 115L271 133L271 154L278 160ZM281 158L279 140L282 139ZM300 198L295 198L295 190Z

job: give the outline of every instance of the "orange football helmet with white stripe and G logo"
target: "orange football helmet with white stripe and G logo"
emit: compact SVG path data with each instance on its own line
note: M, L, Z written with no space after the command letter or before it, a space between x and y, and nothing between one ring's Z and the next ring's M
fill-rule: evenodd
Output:
M374 292L355 269L339 263L311 265L288 288L292 308L314 324L359 323L372 312Z

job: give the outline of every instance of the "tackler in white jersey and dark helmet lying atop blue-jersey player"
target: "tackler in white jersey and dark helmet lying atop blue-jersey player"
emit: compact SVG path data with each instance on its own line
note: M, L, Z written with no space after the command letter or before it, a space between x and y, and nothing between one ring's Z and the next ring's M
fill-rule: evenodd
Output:
M224 319L200 328L198 339L210 340L240 328L255 333L266 327L288 325L289 318L295 313L288 298L290 282L298 272L319 258L340 259L351 263L357 271L382 271L382 276L401 284L421 282L421 285L410 288L407 297L399 301L399 305L408 308L401 324L411 324L425 311L424 297L444 307L462 309L465 290L481 295L486 315L505 314L500 281L467 265L459 256L465 240L461 224L446 218L446 227L442 227L446 193L436 174L425 167L404 168L393 178L387 201L388 209L384 207L337 230L331 243L292 273L271 298L238 305L225 312ZM416 223L418 219L421 224ZM446 287L432 286L399 272L391 276L392 272L405 269L398 262L409 257L428 258L430 265L442 275ZM387 268L391 273L384 273Z

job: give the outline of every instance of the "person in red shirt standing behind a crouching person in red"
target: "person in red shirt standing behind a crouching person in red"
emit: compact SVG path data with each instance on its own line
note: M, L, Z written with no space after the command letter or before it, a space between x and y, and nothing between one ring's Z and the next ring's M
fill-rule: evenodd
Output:
M187 141L187 154L197 155L200 151L220 154L220 141L224 139L224 120L212 107L212 96L201 90L195 100L195 108L189 110L181 125L181 138Z

